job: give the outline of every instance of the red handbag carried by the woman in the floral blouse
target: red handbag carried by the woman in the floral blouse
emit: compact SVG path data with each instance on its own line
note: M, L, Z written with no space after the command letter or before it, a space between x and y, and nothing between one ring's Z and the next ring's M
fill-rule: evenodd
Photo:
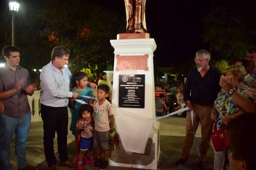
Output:
M227 127L217 130L217 123L214 124L214 131L211 133L212 143L216 152L230 148L230 137L227 137Z

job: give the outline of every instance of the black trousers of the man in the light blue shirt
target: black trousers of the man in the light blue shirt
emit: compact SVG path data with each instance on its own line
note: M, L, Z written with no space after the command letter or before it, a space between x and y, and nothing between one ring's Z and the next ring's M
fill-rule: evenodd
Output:
M48 166L56 164L54 156L53 139L57 132L59 159L68 160L68 109L67 107L50 107L41 104L41 117L44 122L44 154Z

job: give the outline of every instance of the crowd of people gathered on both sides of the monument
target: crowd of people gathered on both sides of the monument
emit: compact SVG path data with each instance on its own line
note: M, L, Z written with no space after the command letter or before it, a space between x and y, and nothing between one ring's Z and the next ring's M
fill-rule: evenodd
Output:
M53 148L53 139L57 133L60 166L83 170L83 164L90 164L94 169L105 170L111 148L110 133L114 131L112 105L107 100L111 90L106 73L101 74L98 86L88 82L83 72L71 75L70 70L64 67L68 64L69 55L70 51L64 46L54 47L51 61L42 68L40 74L46 162L49 170L57 170ZM0 68L0 169L12 169L9 145L15 133L18 170L38 170L38 166L28 165L26 161L26 139L31 122L27 95L33 95L36 86L31 82L28 70L19 65L19 48L6 46L3 56L6 63ZM198 148L198 166L206 169L206 154L215 123L217 130L228 127L231 148L214 151L214 170L223 169L226 152L229 153L230 170L256 168L256 150L252 143L255 138L252 134L255 129L252 121L256 118L256 50L248 50L246 59L237 60L236 65L227 68L225 76L210 64L210 53L204 49L196 52L194 61L196 67L189 71L184 87L180 85L171 88L176 91L171 98L171 101L176 99L177 102L173 109L189 108L182 154L176 166L183 165L189 159L200 123L202 140ZM97 89L97 100L93 97L92 89ZM171 89L156 86L157 116L168 114L170 104L167 93ZM72 109L70 130L75 137L74 162L68 159L67 151L68 107ZM96 158L93 147L96 147Z

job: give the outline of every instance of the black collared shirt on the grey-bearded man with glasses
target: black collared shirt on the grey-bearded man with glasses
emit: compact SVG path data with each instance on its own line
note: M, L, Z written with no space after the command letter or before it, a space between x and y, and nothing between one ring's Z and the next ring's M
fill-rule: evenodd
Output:
M190 70L183 88L184 101L190 100L203 106L213 104L221 89L220 75L220 71L211 65L204 77L197 68Z

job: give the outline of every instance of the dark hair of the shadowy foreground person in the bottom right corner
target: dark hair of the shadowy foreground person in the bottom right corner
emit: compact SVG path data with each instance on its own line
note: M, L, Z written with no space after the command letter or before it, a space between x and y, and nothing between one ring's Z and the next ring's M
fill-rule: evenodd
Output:
M232 159L245 161L248 169L256 169L255 120L256 113L245 113L228 127Z

